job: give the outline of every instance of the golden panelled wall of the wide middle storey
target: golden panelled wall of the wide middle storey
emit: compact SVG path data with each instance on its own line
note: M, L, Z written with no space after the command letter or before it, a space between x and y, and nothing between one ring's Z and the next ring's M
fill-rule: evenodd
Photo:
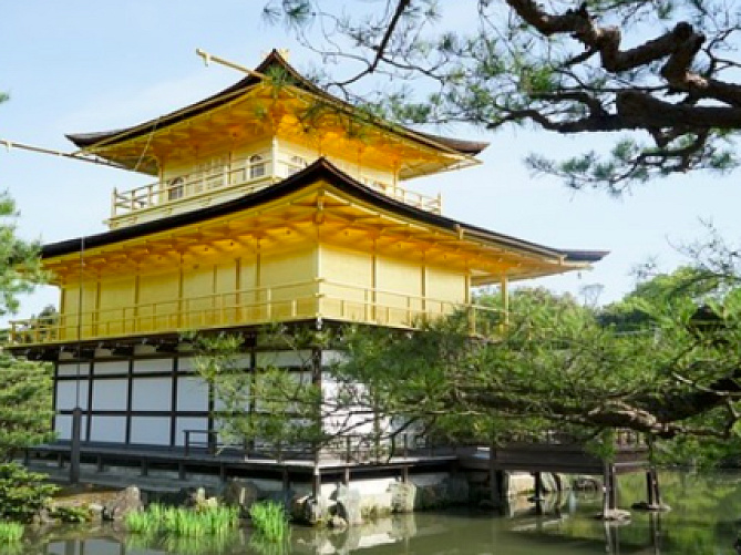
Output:
M323 317L412 326L467 299L463 269L349 246L301 243L187 254L181 263L86 279L82 336L115 337ZM60 339L75 339L79 287L62 285Z

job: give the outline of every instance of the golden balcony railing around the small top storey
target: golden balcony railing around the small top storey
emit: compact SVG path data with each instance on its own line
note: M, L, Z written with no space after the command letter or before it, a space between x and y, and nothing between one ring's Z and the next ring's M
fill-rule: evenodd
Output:
M272 160L268 156L263 156L259 160L250 156L234 160L208 171L183 174L167 182L155 182L130 191L114 188L111 202L111 218L132 216L153 208L175 207L186 204L188 201L206 198L217 191L231 191L239 194L254 193L289 177L306 166L305 163L297 162L296 157L278 157L275 162L274 165ZM440 195L435 197L422 195L395 184L368 177L362 172L358 174L350 166L339 165L361 183L397 201L435 214L441 213Z

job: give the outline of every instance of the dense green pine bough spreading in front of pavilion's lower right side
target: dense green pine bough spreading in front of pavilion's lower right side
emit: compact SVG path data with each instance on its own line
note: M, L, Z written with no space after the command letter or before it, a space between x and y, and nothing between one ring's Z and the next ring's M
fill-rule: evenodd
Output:
M438 435L498 443L557 431L609 459L611 434L629 428L663 439L657 456L677 460L688 450L668 440L711 445L737 421L738 409L719 402L722 389L720 397L709 391L735 387L722 380L741 368L729 349L741 341L741 302L700 277L708 276L687 268L659 276L605 310L519 289L506 329L492 340L472 339L457 317L419 333L358 330L346 336L349 361L338 372L367 383L382 413L424 422ZM722 317L708 326L697 314L710 301Z

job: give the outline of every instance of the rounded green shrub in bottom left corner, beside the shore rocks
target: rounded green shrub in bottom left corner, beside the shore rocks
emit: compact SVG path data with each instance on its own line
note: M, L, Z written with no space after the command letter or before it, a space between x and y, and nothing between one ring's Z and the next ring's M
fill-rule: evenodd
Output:
M0 518L29 522L45 507L58 486L17 463L0 464Z

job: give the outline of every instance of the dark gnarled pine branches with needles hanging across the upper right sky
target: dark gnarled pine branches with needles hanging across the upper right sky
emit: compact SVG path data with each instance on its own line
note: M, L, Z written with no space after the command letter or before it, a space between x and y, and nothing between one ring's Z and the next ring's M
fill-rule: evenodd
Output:
M319 76L320 84L353 103L375 104L375 113L393 121L619 133L605 152L527 160L570 187L619 195L656 177L724 173L739 164L732 141L740 127L733 111L741 17L722 0L580 7L565 0L411 0L353 10L322 0L265 4L266 19L292 30L325 65L344 62L339 71L349 75ZM622 56L628 50L632 55ZM688 58L682 79L669 63L680 51ZM710 106L728 116L711 122Z

